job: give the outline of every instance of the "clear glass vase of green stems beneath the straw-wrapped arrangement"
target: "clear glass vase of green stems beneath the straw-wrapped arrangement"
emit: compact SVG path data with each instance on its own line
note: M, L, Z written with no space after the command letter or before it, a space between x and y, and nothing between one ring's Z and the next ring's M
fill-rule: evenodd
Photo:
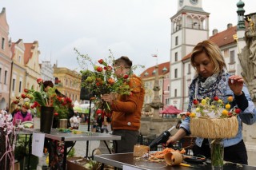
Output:
M222 139L210 140L210 158L213 170L223 169L224 143Z

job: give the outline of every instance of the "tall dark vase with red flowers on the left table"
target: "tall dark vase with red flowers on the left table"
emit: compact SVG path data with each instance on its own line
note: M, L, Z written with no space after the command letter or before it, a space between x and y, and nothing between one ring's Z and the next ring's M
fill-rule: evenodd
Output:
M50 132L53 117L58 121L60 118L68 118L70 109L73 108L70 98L65 97L55 87L45 88L42 78L37 80L40 89L38 91L31 89L24 89L19 97L16 97L15 104L20 100L30 103L30 109L34 112L35 117L40 117L41 132ZM46 128L44 127L46 125Z

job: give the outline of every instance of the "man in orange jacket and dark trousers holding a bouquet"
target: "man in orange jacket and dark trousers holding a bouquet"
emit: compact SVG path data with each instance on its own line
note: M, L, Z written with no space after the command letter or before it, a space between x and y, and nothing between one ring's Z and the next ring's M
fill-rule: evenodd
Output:
M111 125L113 135L122 136L122 140L114 143L115 152L134 152L134 145L137 144L140 128L142 105L145 90L142 80L134 75L131 70L132 61L129 57L120 57L114 61L114 73L118 78L129 75L129 86L131 95L116 95L114 93L103 94L102 100L110 103L112 112Z

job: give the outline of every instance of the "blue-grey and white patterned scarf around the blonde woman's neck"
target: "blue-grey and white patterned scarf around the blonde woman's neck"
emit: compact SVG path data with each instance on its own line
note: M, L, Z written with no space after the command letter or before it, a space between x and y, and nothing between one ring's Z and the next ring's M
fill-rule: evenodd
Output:
M188 111L191 111L192 102L194 99L202 100L205 97L214 98L217 96L220 99L223 99L225 95L226 85L227 85L227 78L229 73L226 73L225 70L222 70L222 73L214 74L211 77L201 77L197 75L194 77L190 85L190 102Z

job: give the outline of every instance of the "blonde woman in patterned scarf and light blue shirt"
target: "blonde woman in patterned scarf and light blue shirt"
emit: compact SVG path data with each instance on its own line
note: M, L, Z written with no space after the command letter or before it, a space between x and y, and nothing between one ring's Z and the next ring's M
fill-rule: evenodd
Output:
M224 160L239 164L247 164L246 146L242 140L242 122L252 125L256 121L254 103L241 76L230 75L226 71L226 64L218 45L210 41L203 41L196 45L191 53L191 65L196 75L190 84L189 107L191 111L194 98L213 98L217 96L226 103L226 98L234 97L231 107L238 107L238 134L231 139L224 139ZM203 129L202 129L203 130ZM166 144L175 143L183 136L190 134L190 119L182 121L178 132L170 136ZM197 138L194 144L194 156L198 154L210 157L209 141Z

